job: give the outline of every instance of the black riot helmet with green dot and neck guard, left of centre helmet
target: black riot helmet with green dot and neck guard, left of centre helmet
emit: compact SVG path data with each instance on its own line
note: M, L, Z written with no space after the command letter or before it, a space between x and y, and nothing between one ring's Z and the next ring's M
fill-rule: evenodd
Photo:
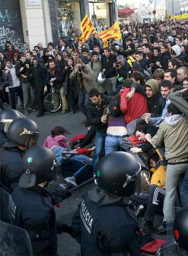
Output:
M55 173L54 153L46 147L34 146L25 152L22 166L24 173L19 186L28 188L37 185L37 177L40 181L52 181Z

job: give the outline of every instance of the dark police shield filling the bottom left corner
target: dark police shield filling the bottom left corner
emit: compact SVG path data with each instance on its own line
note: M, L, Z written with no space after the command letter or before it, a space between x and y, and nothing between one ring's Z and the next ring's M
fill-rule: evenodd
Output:
M24 229L0 221L0 255L33 256L28 233Z

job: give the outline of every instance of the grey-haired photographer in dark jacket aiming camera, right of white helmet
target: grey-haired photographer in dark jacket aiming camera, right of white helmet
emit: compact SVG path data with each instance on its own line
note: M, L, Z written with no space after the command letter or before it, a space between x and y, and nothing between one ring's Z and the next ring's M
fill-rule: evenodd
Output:
M113 64L116 71L116 77L118 80L118 85L123 83L126 78L128 78L128 73L131 70L131 66L124 59L123 55L118 55L116 58L117 62Z

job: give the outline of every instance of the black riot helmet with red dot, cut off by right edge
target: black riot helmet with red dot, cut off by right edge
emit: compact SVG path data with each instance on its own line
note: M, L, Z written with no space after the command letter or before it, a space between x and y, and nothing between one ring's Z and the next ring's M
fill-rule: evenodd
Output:
M178 245L188 251L188 206L180 210L175 217L174 236Z

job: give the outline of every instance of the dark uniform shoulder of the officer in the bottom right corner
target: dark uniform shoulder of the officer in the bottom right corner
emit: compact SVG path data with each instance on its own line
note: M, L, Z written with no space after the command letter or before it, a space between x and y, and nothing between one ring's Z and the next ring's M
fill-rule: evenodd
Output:
M170 240L158 249L156 256L188 256L188 251L181 249L176 241Z

